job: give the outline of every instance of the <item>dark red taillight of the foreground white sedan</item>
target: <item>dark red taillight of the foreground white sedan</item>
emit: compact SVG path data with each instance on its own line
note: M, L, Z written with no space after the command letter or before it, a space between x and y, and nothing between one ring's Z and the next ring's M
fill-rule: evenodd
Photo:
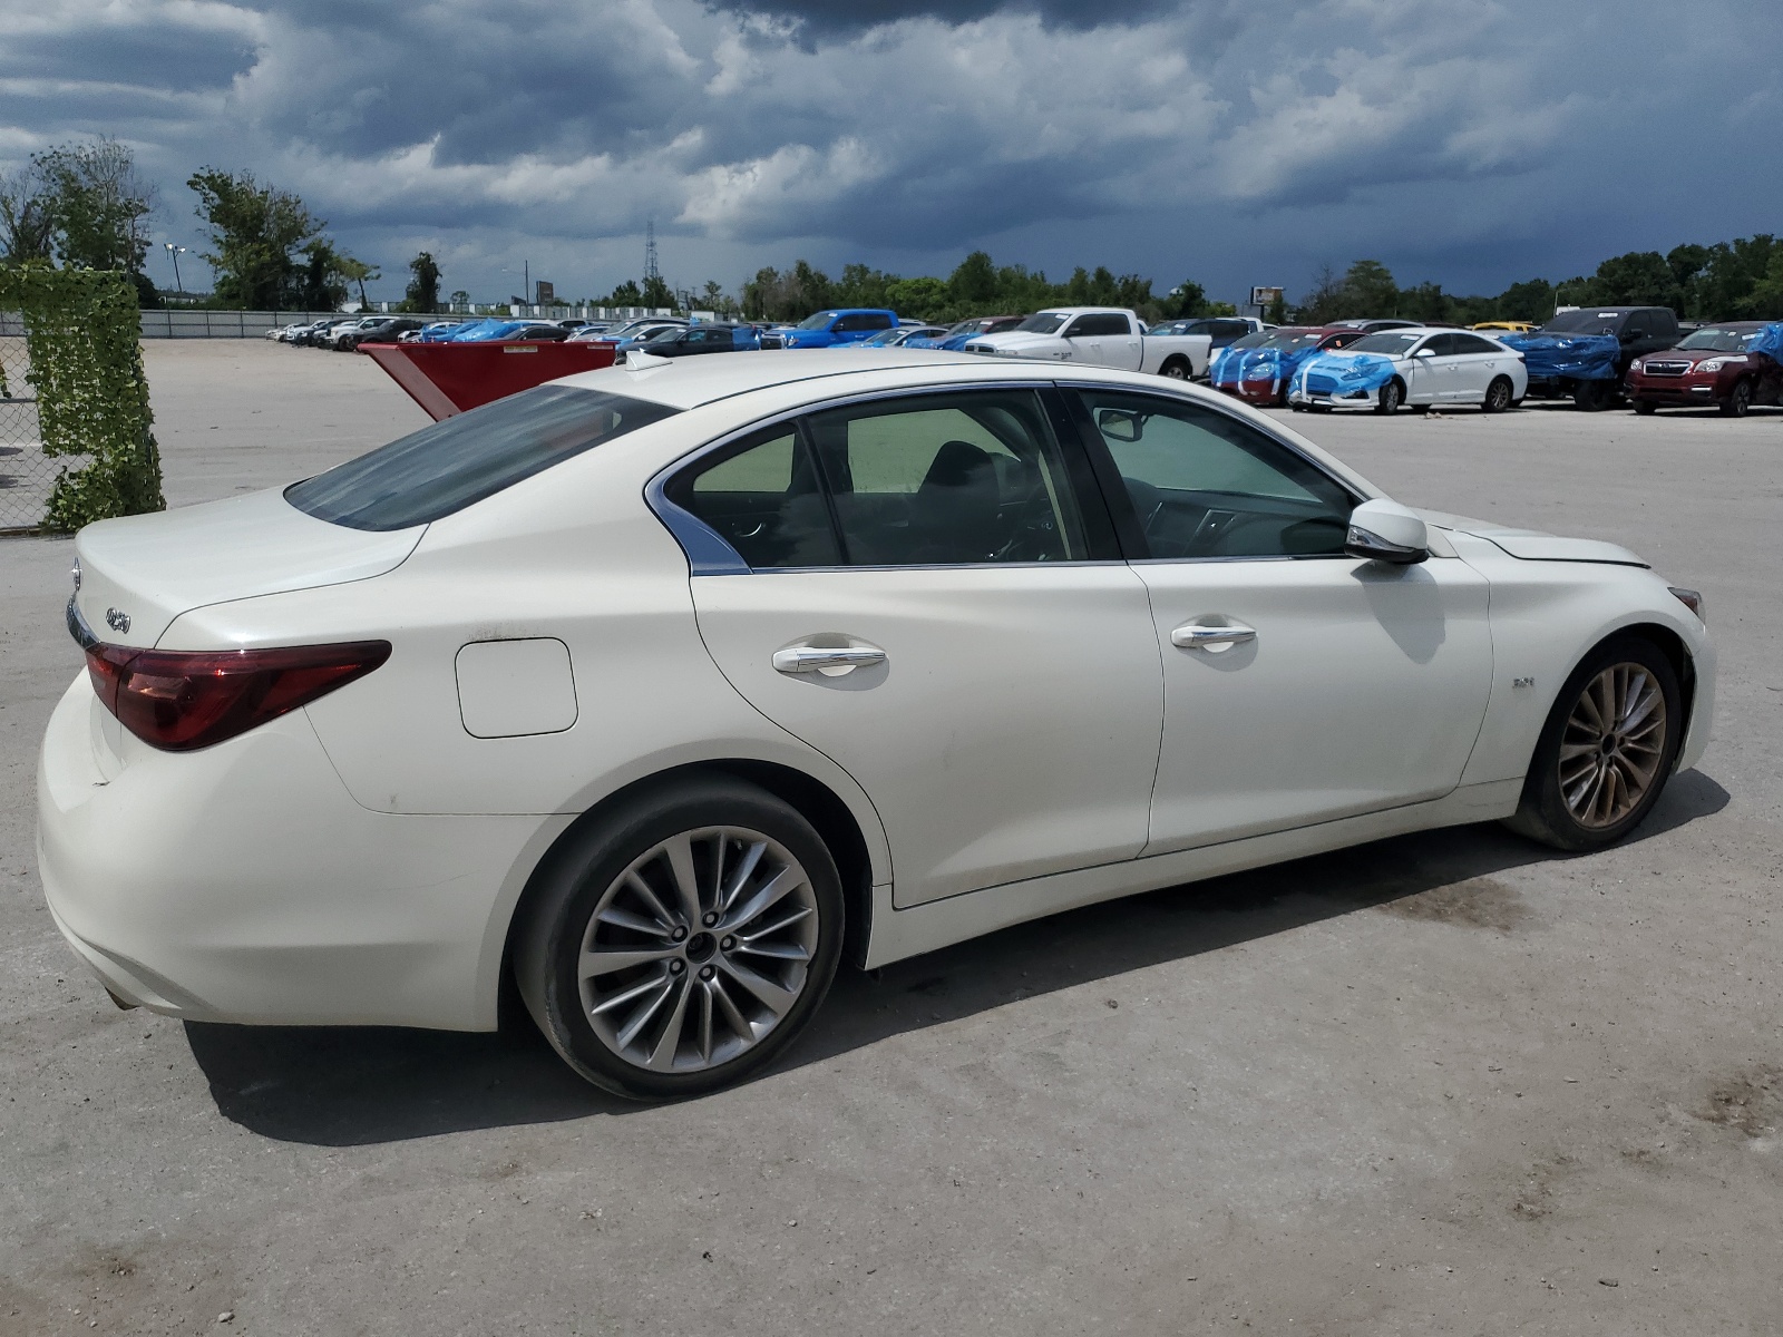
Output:
M166 752L191 752L307 706L389 658L387 640L267 651L91 645L87 676L125 729Z

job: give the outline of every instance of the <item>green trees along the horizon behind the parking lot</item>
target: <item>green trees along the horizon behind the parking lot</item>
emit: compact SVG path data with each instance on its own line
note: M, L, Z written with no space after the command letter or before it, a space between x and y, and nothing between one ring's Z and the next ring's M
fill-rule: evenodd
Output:
M253 173L203 168L185 185L198 196L196 214L209 235L201 257L216 275L212 305L337 310L353 294L366 303L366 283L382 278L376 266L341 250L328 237L328 223L303 200ZM144 307L159 307L164 294L144 275L148 225L157 209L153 184L116 139L43 150L20 171L0 176L0 262L118 269L136 282ZM408 275L401 308L439 310L442 276L435 258L421 251L408 262ZM451 301L467 303L469 292L460 289ZM884 307L940 323L1043 307L1130 307L1146 321L1234 312L1228 303L1209 301L1191 280L1154 294L1150 278L1098 266L1073 269L1066 282L1054 283L1045 271L998 266L986 251L972 251L947 278L893 275L867 264L843 266L840 278L831 278L795 260L790 269L758 269L738 298L708 282L683 299L660 275L649 275L628 278L587 305L694 305L756 321L799 321L831 307ZM1689 242L1664 255L1630 251L1592 275L1530 278L1498 296L1460 296L1430 282L1400 287L1380 260L1355 260L1343 275L1323 267L1298 303L1277 303L1264 316L1309 324L1364 316L1539 324L1557 305L1671 307L1681 319L1783 319L1783 239L1756 234L1710 246Z

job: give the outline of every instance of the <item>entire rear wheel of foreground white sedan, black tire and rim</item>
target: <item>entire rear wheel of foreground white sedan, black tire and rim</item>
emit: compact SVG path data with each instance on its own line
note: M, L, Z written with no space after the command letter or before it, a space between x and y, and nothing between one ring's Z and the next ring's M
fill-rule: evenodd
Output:
M515 984L563 1061L619 1096L742 1082L799 1036L836 975L843 898L829 849L793 808L736 779L638 793L537 877L515 925ZM583 975L585 952L612 964Z

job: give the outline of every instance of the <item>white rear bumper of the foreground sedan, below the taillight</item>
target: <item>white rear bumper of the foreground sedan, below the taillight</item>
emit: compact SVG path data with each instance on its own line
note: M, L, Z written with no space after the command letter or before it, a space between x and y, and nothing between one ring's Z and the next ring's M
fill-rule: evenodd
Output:
M201 1021L489 1030L508 909L549 820L353 802L308 717L105 758L82 674L37 763L55 925L125 1002Z

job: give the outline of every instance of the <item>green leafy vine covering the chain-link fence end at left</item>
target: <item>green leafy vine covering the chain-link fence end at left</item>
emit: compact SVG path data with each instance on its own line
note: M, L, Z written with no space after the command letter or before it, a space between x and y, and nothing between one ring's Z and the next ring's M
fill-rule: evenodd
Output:
M160 451L150 431L141 312L127 275L0 266L0 310L25 317L37 424L48 456L87 455L62 469L43 515L71 531L114 515L164 510Z

